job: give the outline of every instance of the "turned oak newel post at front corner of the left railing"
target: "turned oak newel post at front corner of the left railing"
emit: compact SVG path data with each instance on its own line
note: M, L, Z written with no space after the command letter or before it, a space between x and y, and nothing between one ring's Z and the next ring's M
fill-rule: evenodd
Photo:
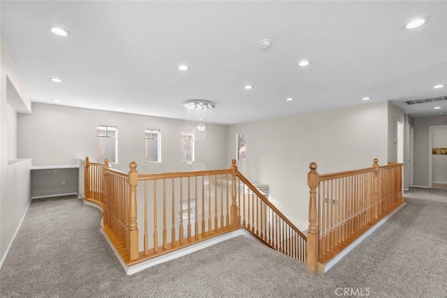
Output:
M135 161L129 164L129 236L127 248L129 249L129 257L131 260L138 259L138 226L137 226L137 184L138 172L136 170L137 163Z

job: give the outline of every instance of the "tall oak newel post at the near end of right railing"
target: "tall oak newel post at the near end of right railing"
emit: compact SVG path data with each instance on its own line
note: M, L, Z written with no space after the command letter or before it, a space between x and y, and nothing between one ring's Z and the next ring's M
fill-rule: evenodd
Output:
M316 163L310 163L307 174L309 186L309 231L307 232L307 274L314 276L318 273L318 233L316 232L316 188L318 187L318 172Z

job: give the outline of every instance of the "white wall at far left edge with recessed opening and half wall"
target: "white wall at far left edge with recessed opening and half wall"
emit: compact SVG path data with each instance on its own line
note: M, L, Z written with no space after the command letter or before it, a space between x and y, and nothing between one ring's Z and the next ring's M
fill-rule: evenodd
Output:
M31 112L22 79L0 40L0 267L29 200L31 161L17 160L17 112Z

